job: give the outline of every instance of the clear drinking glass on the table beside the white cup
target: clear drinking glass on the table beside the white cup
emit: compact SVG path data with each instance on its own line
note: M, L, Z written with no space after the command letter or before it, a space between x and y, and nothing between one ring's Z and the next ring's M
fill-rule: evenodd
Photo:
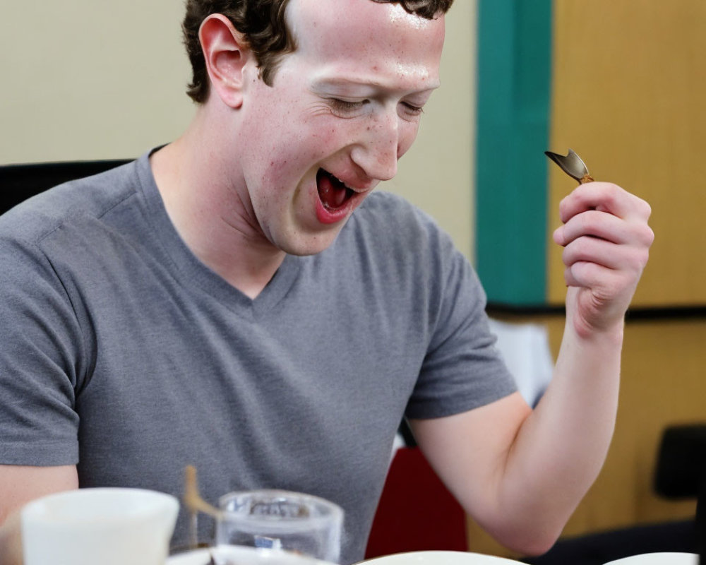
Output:
M343 511L333 502L265 489L231 492L219 506L218 545L285 549L333 563L340 559Z

